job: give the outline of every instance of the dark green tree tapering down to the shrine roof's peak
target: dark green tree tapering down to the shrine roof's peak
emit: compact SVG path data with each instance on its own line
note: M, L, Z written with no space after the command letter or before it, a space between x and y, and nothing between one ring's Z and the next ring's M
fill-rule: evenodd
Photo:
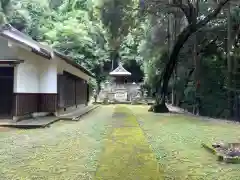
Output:
M134 11L129 9L134 6L133 0L100 0L96 5L96 8L100 10L101 21L108 32L112 69L116 67L120 59L119 50L123 39L134 24Z

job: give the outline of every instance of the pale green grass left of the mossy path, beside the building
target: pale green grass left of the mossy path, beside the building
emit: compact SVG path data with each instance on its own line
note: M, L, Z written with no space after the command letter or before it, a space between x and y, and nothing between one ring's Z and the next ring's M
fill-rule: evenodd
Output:
M93 179L112 112L102 107L79 122L1 132L0 179Z

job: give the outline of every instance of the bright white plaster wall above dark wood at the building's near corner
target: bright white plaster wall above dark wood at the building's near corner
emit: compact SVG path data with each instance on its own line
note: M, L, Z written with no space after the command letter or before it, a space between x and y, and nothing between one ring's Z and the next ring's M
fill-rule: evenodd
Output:
M24 60L14 69L14 92L57 93L57 63L19 48L17 56Z

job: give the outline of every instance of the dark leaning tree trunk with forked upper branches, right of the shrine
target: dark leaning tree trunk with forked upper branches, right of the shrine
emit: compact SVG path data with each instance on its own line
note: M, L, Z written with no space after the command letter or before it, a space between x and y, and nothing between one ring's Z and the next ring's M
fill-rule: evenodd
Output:
M222 0L217 4L217 7L210 12L206 17L200 20L196 20L196 16L193 15L196 13L196 7L192 2L188 1L184 3L183 1L175 1L171 6L180 8L187 21L188 25L182 30L179 34L176 43L174 44L173 50L171 51L171 55L168 63L166 64L164 71L161 75L162 87L160 96L156 100L156 104L150 109L154 112L168 112L168 108L165 104L165 96L168 91L169 80L173 74L174 68L178 62L178 55L180 50L182 49L185 42L189 39L189 37L197 32L199 29L207 25L211 20L213 20L221 11L223 6L227 4L230 0Z

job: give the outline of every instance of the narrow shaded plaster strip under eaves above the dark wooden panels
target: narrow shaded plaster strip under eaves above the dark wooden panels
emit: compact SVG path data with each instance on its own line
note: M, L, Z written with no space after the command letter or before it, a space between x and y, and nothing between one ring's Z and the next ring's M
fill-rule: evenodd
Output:
M80 77L86 81L90 80L90 76L80 71L78 68L73 67L72 65L66 63L64 60L55 56L55 59L58 63L58 74L63 74L63 71L67 71L77 77Z

